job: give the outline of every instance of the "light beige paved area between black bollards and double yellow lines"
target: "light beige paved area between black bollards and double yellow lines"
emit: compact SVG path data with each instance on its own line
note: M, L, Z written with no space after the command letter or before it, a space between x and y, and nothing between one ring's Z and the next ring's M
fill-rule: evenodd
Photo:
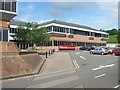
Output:
M46 59L46 62L40 70L40 74L50 74L71 69L74 69L74 65L71 61L69 53L55 52Z

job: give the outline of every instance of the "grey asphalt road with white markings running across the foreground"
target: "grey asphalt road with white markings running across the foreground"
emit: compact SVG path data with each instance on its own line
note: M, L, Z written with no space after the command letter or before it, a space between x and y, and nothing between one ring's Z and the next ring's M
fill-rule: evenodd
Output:
M67 51L66 51L67 52ZM118 56L69 51L72 70L3 80L3 88L119 88Z

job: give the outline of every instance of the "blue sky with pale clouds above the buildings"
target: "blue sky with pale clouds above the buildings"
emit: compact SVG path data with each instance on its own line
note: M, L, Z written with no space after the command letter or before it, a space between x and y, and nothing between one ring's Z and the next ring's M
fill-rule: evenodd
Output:
M19 2L14 19L38 23L61 20L109 30L118 28L118 2Z

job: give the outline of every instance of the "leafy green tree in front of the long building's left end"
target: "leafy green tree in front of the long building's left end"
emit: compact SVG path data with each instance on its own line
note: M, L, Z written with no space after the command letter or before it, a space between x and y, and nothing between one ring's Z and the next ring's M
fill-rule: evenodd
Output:
M47 28L38 28L37 24L26 23L17 28L14 39L18 43L33 43L42 45L49 42L50 35L47 33Z

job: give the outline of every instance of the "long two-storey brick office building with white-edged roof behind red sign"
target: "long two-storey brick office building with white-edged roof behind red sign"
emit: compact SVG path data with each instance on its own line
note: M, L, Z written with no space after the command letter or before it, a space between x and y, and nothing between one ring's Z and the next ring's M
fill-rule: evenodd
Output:
M79 24L53 20L39 24L47 27L51 36L48 46L72 44L76 46L105 46L109 37L108 33Z

